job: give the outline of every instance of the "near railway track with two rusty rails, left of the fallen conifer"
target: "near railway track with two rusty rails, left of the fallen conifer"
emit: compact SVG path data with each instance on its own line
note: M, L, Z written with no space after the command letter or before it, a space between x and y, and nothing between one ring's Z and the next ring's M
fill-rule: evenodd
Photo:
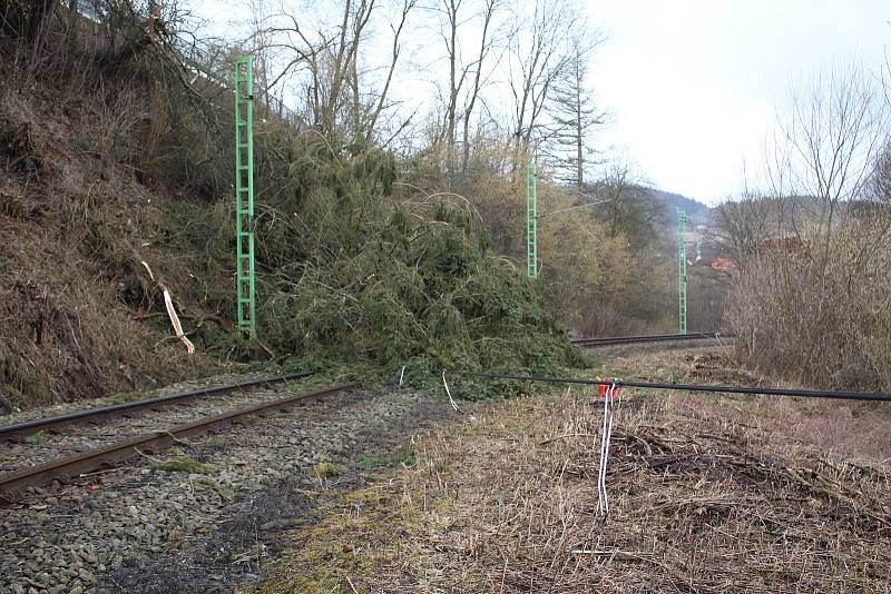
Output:
M242 382L237 384L229 384L215 388L206 388L200 390L192 390L187 393L179 393L160 398L151 398L148 400L139 400L135 403L126 403L125 405L115 405L110 407L96 408L92 410L81 410L69 415L60 415L46 419L38 419L27 423L21 423L2 429L7 429L2 435L22 436L33 435L35 433L43 429L51 429L52 433L58 432L62 425L71 423L84 423L87 420L107 419L109 416L130 415L134 412L145 409L160 409L165 412L166 406L170 404L179 404L184 400L196 399L198 396L218 395L226 392L233 392L255 386L267 386L268 384L282 383L292 379L305 377L310 374L287 374L284 376L274 376L262 378L251 382ZM183 438L194 437L212 430L217 430L234 423L238 423L246 417L262 415L264 413L272 413L278 409L285 409L293 406L301 400L321 398L339 392L349 390L358 387L358 384L341 384L331 386L323 389L306 392L303 394L287 396L285 398L265 399L261 403L254 403L249 406L241 406L237 408L228 408L221 410L219 404L210 407L208 410L199 412L197 418L193 418L187 423L178 423L170 425L155 426L153 430L141 433L126 433L126 438L120 439L120 434L112 435L101 434L99 440L96 442L81 442L80 446L74 448L67 447L65 444L49 444L43 451L38 451L35 457L45 461L43 454L47 451L49 455L53 456L51 462L41 462L39 464L28 463L21 467L0 474L0 502L12 502L26 492L29 487L38 487L51 483L52 481L66 481L79 474L98 471L108 465L119 464L139 455L145 451L158 451L170 446ZM99 426L98 430L102 432L105 426ZM30 433L25 433L30 432ZM98 446L91 445L98 443ZM86 444L86 445L85 445ZM40 444L27 444L26 451L33 449ZM66 448L69 453L66 455ZM61 452L62 455L58 456L56 453Z

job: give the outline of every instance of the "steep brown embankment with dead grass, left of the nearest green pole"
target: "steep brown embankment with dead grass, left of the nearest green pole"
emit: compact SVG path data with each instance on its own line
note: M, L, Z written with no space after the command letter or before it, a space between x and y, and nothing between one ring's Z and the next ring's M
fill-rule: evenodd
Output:
M227 239L195 228L205 197L169 189L193 158L163 147L160 85L88 61L29 77L1 41L0 413L218 367L203 347L219 347L234 307L210 249ZM195 356L174 336L160 284Z

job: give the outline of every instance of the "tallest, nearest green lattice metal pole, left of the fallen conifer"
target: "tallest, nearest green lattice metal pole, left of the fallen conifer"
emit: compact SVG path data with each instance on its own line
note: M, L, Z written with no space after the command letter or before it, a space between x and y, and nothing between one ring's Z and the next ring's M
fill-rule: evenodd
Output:
M235 241L238 330L257 337L254 285L254 61L235 60Z

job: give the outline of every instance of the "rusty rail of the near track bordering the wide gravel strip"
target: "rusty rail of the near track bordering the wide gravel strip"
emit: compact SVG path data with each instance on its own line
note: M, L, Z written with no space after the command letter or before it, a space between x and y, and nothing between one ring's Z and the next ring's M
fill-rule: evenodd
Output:
M131 437L105 447L79 452L46 464L30 466L0 475L0 502L8 503L14 501L17 495L21 494L28 487L42 486L55 479L66 479L79 474L98 471L110 464L123 463L135 457L143 449L163 449L184 437L194 437L212 429L232 425L242 417L284 408L298 400L326 396L356 387L359 387L358 383L340 384L324 389L297 394L275 402L239 408L193 423L177 425L167 430Z

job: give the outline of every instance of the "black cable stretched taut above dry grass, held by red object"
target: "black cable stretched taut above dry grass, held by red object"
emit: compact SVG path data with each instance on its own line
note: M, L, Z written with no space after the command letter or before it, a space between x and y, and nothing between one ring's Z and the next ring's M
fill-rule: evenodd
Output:
M576 379L567 377L536 377L509 374L474 374L470 372L447 370L449 374L483 377L489 379L517 379L520 382L542 382L547 384L584 384L588 386L616 386L628 388L677 389L683 392L711 392L726 394L751 394L755 396L801 396L804 398L835 398L842 400L871 400L891 403L891 394L871 392L833 392L786 388L746 388L737 386L701 386L696 384L666 384L650 382L629 382L627 379Z

